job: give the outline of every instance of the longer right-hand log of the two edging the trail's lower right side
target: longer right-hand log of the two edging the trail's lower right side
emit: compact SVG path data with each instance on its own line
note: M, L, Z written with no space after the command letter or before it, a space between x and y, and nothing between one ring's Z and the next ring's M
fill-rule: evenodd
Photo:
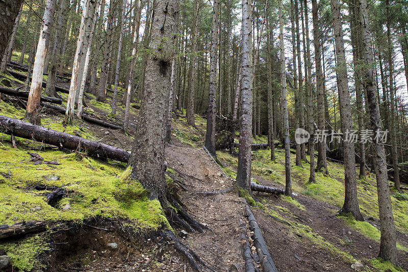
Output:
M246 204L246 216L248 217L250 230L253 232L253 245L257 249L258 256L261 259L263 271L277 272L272 256L269 253L264 237L262 236L262 231L248 204Z

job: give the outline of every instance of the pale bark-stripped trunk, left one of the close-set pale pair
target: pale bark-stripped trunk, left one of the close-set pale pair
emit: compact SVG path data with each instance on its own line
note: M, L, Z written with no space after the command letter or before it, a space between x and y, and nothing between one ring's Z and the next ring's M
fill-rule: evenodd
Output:
M82 51L84 49L85 28L86 28L85 20L86 20L86 18L88 16L88 10L90 9L91 5L96 5L96 1L95 0L87 0L85 2L84 10L82 12L80 33L78 35L77 50L75 51L75 56L74 56L74 60L73 60L73 64L72 64L71 84L70 84L70 87L69 87L67 108L66 108L66 112L65 112L65 121L66 121L66 123L73 123L75 96L77 95L77 86L78 86L78 74L80 72L79 71L80 61L81 61L81 56L83 55Z

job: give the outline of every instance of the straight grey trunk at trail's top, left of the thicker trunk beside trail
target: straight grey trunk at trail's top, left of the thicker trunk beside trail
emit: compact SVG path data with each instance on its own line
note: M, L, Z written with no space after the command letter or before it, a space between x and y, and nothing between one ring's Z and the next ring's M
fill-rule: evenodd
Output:
M187 123L190 126L195 127L195 118L194 118L194 105L195 105L195 88L197 85L197 33L198 33L198 9L199 9L199 0L195 0L195 9L194 9L194 29L193 37L191 38L191 84L190 91L188 95L188 104L187 104Z

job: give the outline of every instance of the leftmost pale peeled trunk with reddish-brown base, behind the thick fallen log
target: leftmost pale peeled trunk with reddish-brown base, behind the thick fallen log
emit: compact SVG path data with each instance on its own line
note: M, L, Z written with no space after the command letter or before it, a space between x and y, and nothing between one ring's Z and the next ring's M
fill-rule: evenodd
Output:
M40 98L42 91L42 76L49 42L50 27L54 17L55 2L56 0L47 0L45 5L44 16L42 17L42 30L40 38L38 39L37 53L34 60L33 79L31 80L27 110L25 111L25 118L34 125L39 125L41 123Z

